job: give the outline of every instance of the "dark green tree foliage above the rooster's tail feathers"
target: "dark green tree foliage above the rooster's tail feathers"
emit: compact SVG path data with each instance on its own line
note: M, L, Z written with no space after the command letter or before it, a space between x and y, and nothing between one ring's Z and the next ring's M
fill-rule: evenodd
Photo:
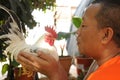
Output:
M53 10L56 0L0 0L0 5L13 10L22 21L22 25L27 25L29 28L33 28L36 22L31 15L34 9L46 9ZM0 11L0 24L8 18L8 15Z

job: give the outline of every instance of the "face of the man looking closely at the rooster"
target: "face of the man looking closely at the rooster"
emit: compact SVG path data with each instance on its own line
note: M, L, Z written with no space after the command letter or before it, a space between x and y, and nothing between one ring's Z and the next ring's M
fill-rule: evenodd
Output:
M80 53L91 57L95 56L101 41L101 31L98 29L98 24L95 19L100 7L100 4L93 4L87 8L81 27L77 31L77 44Z

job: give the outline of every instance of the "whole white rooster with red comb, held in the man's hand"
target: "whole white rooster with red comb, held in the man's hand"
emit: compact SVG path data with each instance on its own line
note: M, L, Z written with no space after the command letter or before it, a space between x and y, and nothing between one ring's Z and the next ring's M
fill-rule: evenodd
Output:
M20 51L32 53L37 55L37 51L40 50L44 53L51 54L56 60L58 60L57 50L54 46L54 41L57 38L57 33L53 27L45 27L46 33L40 37L34 45L28 45L25 42L24 33L19 18L14 12L0 5L0 9L6 11L10 18L6 23L0 26L0 40L8 46L5 49L5 53L11 54L11 59L16 60Z

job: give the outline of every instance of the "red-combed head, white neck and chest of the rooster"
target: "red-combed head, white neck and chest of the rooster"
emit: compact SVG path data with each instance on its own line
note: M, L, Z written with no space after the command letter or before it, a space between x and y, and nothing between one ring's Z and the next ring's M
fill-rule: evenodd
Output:
M55 32L55 30L53 29L53 27L45 27L45 31L46 33L43 34L34 45L32 45L34 50L40 50L44 53L49 53L52 54L52 56L58 60L58 54L57 54L57 50L56 47L54 46L54 41L57 38L57 34Z

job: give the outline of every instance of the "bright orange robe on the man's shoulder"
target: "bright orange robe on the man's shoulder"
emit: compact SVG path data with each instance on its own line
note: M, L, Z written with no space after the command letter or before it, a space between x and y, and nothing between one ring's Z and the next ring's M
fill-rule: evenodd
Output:
M120 56L105 62L87 80L120 80Z

